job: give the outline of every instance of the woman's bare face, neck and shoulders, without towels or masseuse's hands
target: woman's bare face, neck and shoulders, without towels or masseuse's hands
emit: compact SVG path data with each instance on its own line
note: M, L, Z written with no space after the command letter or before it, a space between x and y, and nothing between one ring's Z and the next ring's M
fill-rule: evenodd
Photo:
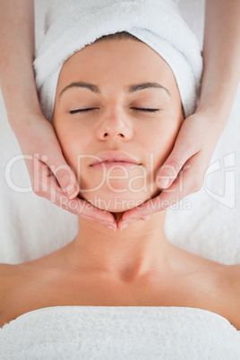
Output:
M81 84L69 86L74 81ZM53 124L64 158L79 177L80 196L117 219L159 194L156 171L183 121L170 66L129 34L98 39L62 66ZM36 261L1 264L1 327L49 306L132 305L204 309L240 330L239 265L170 244L164 219L160 211L113 232L80 216L72 243Z

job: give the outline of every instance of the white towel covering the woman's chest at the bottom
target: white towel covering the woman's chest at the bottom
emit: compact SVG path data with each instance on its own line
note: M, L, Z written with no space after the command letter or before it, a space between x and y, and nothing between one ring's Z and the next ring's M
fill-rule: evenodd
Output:
M238 360L240 331L219 314L191 307L54 306L4 325L1 354L9 360Z

